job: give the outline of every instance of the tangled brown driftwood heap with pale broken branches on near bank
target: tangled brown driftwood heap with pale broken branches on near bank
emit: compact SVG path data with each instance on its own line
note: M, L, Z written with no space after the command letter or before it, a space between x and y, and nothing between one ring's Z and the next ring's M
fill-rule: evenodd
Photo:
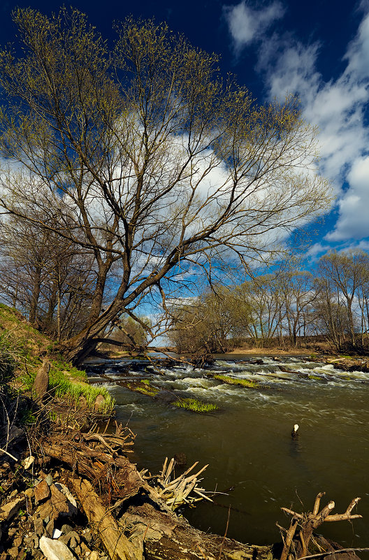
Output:
M154 478L138 473L136 466L122 455L126 447L120 438L125 438L126 431L115 433L115 440L108 433L97 435L72 430L61 438L60 433L55 433L45 438L42 445L45 456L71 468L71 489L110 559L142 560L143 551L145 560L272 559L271 547L243 545L226 536L194 529L173 512L171 498L169 504L162 499L174 490L175 495L182 495L183 501L188 500L187 491L196 487L203 469L190 475L194 465L184 475L170 480L173 461L167 461L156 477L155 488L148 483L152 479L155 486Z

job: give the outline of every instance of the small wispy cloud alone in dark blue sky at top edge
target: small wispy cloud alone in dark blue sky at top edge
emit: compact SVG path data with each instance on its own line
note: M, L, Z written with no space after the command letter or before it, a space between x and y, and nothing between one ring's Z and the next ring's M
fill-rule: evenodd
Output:
M243 0L236 6L224 6L224 14L237 52L259 39L273 22L280 20L284 8L280 2L274 1L265 8L254 10Z

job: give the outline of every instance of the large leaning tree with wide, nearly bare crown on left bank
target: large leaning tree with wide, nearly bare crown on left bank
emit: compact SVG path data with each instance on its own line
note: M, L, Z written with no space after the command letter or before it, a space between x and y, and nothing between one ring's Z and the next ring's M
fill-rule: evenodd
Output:
M22 50L0 54L1 201L94 254L89 317L61 346L69 359L144 297L245 264L326 208L296 99L257 105L166 24L127 20L110 51L77 10L14 20Z

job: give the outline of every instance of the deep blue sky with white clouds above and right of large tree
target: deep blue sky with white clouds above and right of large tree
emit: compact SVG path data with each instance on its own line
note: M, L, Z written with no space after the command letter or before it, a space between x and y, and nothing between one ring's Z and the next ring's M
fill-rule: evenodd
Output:
M14 39L15 6L51 13L60 4L4 2L1 43ZM337 196L310 257L334 247L369 249L369 0L76 0L73 6L107 38L113 20L129 14L166 20L194 45L221 55L222 72L235 73L261 102L298 93L303 114L319 127L319 166Z

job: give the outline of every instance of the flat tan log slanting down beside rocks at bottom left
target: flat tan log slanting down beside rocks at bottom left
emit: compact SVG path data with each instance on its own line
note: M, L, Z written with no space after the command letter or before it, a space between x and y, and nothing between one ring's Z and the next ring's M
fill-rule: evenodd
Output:
M88 480L71 480L73 489L82 504L89 524L99 533L111 560L143 560L143 541L134 544L120 531L113 515L103 506L101 499Z

